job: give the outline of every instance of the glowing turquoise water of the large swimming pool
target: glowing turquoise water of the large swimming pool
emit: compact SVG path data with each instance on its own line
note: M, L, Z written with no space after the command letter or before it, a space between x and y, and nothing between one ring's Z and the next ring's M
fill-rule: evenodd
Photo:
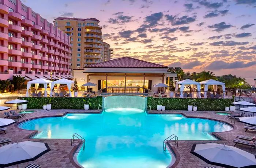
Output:
M163 152L166 137L176 134L179 140L217 140L209 133L232 129L213 120L148 115L131 108L31 121L34 124L19 127L41 131L33 138L70 139L74 133L84 137L85 150L77 156L84 168L166 168L172 159L169 152Z

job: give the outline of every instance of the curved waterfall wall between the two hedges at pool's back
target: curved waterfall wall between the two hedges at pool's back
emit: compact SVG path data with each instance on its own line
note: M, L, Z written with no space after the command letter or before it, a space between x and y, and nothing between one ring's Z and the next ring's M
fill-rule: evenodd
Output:
M137 108L144 110L146 108L146 97L142 96L106 96L103 97L103 107L111 108Z

